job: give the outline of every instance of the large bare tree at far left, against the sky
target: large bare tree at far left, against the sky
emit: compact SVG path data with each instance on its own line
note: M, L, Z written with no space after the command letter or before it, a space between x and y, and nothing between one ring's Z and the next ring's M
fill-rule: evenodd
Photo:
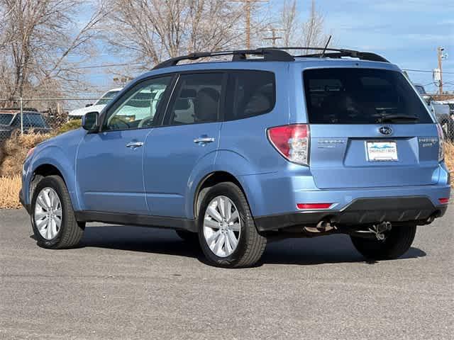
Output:
M92 11L85 23L80 11ZM106 15L83 0L0 0L0 97L55 96L79 83Z

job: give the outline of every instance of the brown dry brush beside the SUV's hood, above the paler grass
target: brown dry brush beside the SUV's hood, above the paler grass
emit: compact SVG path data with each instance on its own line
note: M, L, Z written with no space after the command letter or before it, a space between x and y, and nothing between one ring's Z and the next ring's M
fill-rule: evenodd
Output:
M27 152L40 142L48 140L54 134L15 132L0 147L0 176L16 176L22 172L22 164Z

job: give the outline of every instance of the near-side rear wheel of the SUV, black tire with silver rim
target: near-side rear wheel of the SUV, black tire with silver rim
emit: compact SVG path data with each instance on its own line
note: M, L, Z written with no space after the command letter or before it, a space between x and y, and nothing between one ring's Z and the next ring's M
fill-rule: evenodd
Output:
M214 203L217 202L219 198L221 198L221 202L223 203ZM209 214L212 211L211 208L213 208L214 204L217 204L215 209L218 212L221 212L219 208L220 205L231 205L230 211L226 212L231 219L226 217L224 222L218 222L211 218L211 216L206 215L206 213ZM210 210L209 205L211 207ZM226 207L226 205L224 206ZM227 208L224 209L227 211ZM209 211L207 212L207 210ZM236 212L238 212L238 214L236 214ZM207 226L208 222L206 221L210 222L210 227ZM218 229L216 229L216 227L211 228L212 225L216 224L219 226L217 227ZM246 200L243 191L234 183L223 182L209 188L209 191L206 192L199 208L197 225L199 228L201 249L209 263L214 266L224 268L250 267L258 262L263 251L265 251L267 239L258 233L253 216L250 212L248 201ZM218 241L220 244L223 244L218 247L219 251L224 253L222 256L218 256L219 251L218 254L215 254L214 252L216 250L217 242L209 242L211 237L216 237L216 233L220 235ZM236 238L236 245L235 242L233 242L232 234ZM222 237L223 239L221 239ZM235 249L233 249L234 245ZM214 247L214 250L211 249L210 246ZM232 252L228 254L229 251Z

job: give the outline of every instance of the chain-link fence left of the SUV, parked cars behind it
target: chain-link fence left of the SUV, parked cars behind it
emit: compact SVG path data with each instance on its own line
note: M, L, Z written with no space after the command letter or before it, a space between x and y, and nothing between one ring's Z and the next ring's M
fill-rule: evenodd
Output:
M79 120L99 98L0 98L0 143L13 133L56 132ZM96 106L94 110L101 110Z

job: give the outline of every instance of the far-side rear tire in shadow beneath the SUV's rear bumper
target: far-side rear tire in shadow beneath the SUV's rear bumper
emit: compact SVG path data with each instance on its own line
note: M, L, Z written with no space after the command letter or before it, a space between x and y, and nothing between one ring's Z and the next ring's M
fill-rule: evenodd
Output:
M386 239L363 239L350 236L355 248L366 259L391 260L404 255L410 249L416 234L416 225L393 227L386 232Z

